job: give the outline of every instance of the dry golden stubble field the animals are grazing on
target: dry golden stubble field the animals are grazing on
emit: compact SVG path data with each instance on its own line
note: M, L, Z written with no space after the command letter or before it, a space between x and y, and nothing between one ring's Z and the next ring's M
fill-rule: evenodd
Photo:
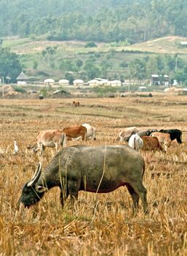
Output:
M78 99L79 108L73 100L0 100L0 255L187 255L187 97ZM102 195L80 192L75 206L67 200L63 210L54 188L36 206L18 208L39 161L26 146L39 130L85 122L97 131L87 145L115 144L122 127L183 131L183 144L167 153L142 152L150 214L143 214L140 202L132 216L125 187ZM46 148L43 169L54 154Z

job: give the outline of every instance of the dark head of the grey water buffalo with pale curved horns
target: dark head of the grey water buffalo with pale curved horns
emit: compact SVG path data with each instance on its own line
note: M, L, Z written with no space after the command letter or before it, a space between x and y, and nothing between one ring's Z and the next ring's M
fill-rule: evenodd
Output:
M47 187L45 187L44 185L39 186L39 184L37 184L41 173L42 165L41 163L39 163L37 170L34 173L34 176L31 178L31 181L28 181L23 186L20 199L18 200L19 204L23 203L25 207L29 207L37 203L45 194L45 192L47 191Z

